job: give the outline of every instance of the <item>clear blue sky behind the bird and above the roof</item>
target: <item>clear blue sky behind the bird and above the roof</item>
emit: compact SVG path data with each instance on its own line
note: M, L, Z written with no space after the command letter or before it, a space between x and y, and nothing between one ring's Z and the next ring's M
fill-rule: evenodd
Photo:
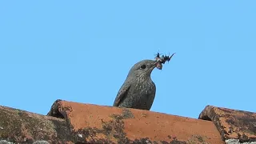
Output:
M1 1L0 105L47 114L56 99L112 106L130 67L154 70L153 111L256 111L256 1Z

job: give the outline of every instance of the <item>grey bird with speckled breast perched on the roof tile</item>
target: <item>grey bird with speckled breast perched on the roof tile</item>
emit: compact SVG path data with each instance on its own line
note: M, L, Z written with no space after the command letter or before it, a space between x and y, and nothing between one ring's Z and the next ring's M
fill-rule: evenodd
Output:
M155 67L158 67L158 62L149 59L134 64L118 90L113 106L150 110L156 93L150 77Z

